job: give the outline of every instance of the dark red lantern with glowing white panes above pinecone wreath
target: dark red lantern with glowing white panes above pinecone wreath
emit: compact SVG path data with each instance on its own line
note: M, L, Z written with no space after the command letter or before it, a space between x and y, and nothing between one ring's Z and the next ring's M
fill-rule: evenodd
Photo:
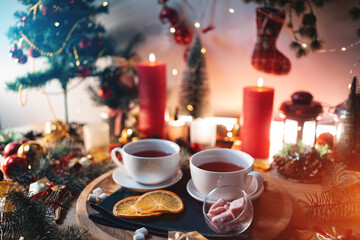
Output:
M295 92L290 101L280 106L280 117L284 121L283 142L314 146L316 141L317 122L323 112L322 105L313 101L308 92Z

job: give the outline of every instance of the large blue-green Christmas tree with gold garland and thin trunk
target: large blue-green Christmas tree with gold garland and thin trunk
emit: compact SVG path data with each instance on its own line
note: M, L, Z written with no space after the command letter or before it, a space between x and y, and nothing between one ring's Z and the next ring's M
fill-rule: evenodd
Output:
M7 83L13 91L42 87L49 81L60 82L67 115L67 89L71 79L85 78L95 72L95 61L112 49L103 37L105 29L95 16L107 12L108 2L95 6L93 0L19 0L28 11L17 11L17 23L8 38L11 57L24 64L28 57L46 57L46 70L31 72ZM27 56L23 53L27 49Z

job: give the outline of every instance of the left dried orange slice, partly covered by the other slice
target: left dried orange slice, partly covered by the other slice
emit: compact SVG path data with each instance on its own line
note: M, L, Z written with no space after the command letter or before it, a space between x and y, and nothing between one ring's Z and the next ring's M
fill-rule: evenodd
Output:
M159 216L162 212L141 213L136 207L135 202L140 196L127 197L118 201L113 208L113 214L124 218L138 218Z

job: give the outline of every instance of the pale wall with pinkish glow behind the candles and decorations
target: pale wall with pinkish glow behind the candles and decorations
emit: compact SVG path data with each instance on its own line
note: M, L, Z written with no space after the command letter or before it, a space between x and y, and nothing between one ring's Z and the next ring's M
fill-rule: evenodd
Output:
M9 2L9 1L8 1ZM34 121L48 121L50 114L44 97L36 90L30 90L28 103L20 107L17 94L5 90L4 82L12 81L16 76L25 74L30 64L21 66L8 58L9 41L2 33L6 33L9 26L14 24L13 12L20 8L15 1L6 3L0 9L0 119L2 128L13 127ZM196 14L188 7L184 7L186 19L190 22L197 20L201 9L205 6L205 16L209 11L210 0L188 0L196 9ZM182 0L169 0L169 5L181 8ZM358 22L352 22L347 12L355 5L355 0L343 0L329 4L323 9L316 9L320 38L325 41L326 49L340 49L343 46L359 40L356 36ZM235 14L227 9L234 8ZM284 100L297 90L311 92L316 100L326 105L336 105L343 101L348 94L347 85L350 82L349 72L353 63L359 59L360 44L346 52L315 53L297 59L294 51L288 45L292 35L285 26L277 41L278 49L287 56L291 63L291 72L286 76L263 74L251 66L250 58L256 40L255 27L256 5L244 4L241 0L217 0L214 18L215 30L201 34L204 47L207 49L207 73L211 86L211 106L213 113L219 116L235 116L241 114L242 89L244 86L254 85L259 77L265 79L265 85L275 88L274 117L278 116L278 108ZM169 109L174 109L177 103L177 91L181 84L182 72L185 67L183 54L185 46L178 45L172 39L168 26L162 25L158 19L161 6L157 0L122 0L110 1L110 13L99 18L108 32L123 42L128 36L125 30L139 30L146 35L146 41L137 53L144 59L150 52L154 52L157 59L167 62ZM195 16L196 15L196 16ZM207 25L207 18L203 19ZM42 64L37 60L37 67ZM173 68L178 69L177 76L171 75ZM360 66L355 69L357 76ZM74 83L76 80L74 81ZM89 79L69 92L70 121L97 121L100 108L94 107L86 91ZM47 91L59 91L54 82L46 86ZM51 95L50 100L55 109L56 117L64 119L62 95Z

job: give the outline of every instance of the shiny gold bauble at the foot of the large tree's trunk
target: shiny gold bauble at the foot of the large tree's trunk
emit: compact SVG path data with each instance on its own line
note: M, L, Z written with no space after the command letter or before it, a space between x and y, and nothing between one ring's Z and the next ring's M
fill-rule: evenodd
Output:
M44 127L44 142L56 142L69 135L69 126L61 121L46 122Z

